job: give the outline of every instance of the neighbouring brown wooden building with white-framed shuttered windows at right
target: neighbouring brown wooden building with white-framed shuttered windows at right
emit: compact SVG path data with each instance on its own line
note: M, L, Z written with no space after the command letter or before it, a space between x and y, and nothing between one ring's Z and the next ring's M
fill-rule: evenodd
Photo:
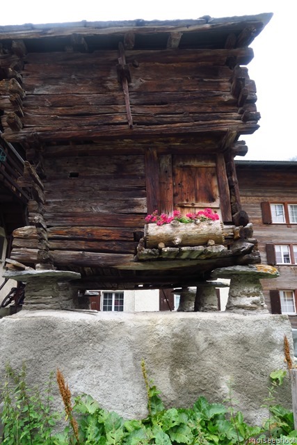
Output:
M235 161L241 204L248 212L262 263L280 277L262 280L273 314L297 327L297 162Z

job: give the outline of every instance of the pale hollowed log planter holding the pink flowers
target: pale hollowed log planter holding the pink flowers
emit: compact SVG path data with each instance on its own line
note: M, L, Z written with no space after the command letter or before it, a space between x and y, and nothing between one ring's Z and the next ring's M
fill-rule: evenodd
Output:
M183 224L172 221L170 224L161 226L156 224L145 225L147 248L156 248L161 242L167 247L207 245L209 239L213 239L216 244L222 244L225 241L223 224L220 221L201 222L199 224Z

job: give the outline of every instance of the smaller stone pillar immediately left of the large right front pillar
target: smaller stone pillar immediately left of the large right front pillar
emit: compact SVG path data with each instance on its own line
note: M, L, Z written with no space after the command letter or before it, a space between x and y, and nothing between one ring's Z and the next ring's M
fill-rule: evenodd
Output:
M218 297L216 295L217 287L228 287L228 284L211 281L204 281L197 284L194 307L195 312L218 311Z

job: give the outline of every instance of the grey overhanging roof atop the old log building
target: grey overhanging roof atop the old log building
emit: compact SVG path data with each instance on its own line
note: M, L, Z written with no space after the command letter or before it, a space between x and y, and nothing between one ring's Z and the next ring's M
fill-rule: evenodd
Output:
M152 20L136 19L121 22L70 22L55 24L23 24L0 26L0 40L22 39L28 51L60 51L73 44L76 35L83 36L88 51L118 49L119 38L134 35L134 49L168 47L168 38L178 40L178 47L226 47L233 36L236 47L248 46L270 21L272 13L243 17ZM172 34L173 33L173 34ZM179 33L176 34L176 33ZM234 46L233 46L234 47Z

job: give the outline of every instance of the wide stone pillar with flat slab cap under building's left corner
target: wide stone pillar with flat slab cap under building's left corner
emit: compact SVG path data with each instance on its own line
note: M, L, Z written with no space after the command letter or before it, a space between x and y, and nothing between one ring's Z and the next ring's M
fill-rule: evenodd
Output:
M77 288L69 282L78 280L80 273L69 270L20 270L8 271L3 276L26 283L24 309L77 307Z

